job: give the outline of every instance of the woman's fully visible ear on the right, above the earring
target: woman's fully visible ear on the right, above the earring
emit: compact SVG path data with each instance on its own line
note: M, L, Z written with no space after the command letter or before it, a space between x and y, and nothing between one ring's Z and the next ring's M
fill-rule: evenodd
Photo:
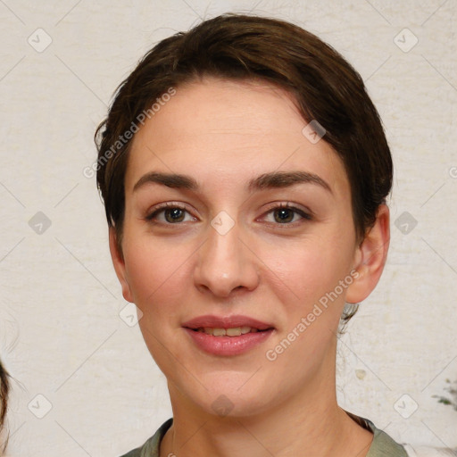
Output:
M356 249L353 270L358 276L354 275L353 283L347 288L347 303L360 303L376 287L386 264L389 242L389 209L386 204L381 204L373 227Z

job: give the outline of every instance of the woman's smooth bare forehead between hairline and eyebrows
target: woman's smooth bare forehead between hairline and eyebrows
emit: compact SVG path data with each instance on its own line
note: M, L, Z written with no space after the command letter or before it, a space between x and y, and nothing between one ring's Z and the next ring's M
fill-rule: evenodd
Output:
M265 82L205 78L177 87L135 135L126 188L150 170L202 182L305 170L348 192L342 162L325 141L303 135L307 123L287 91Z

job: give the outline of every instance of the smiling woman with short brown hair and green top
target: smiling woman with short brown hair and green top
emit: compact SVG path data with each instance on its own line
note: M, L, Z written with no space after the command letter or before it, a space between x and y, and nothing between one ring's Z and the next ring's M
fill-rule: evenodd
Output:
M337 405L337 332L384 268L392 184L349 63L222 15L146 54L98 132L112 262L173 410L126 456L405 456Z

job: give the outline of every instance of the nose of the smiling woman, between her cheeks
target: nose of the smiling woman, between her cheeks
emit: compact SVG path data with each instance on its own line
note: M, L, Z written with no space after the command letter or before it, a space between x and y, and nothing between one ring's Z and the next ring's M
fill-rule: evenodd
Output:
M257 257L237 224L228 233L209 228L208 238L198 250L195 286L227 298L236 289L253 290L259 284Z

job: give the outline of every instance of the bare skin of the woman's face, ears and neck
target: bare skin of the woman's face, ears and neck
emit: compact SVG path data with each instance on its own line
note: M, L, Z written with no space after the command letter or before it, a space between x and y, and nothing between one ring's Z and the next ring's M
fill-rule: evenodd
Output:
M378 283L389 213L381 205L374 227L356 240L343 163L325 137L312 144L303 136L306 124L278 87L205 78L178 87L134 137L121 252L113 229L110 246L124 298L143 312L145 343L168 379L174 422L162 456L368 452L372 434L337 405L337 328L345 302L361 302ZM297 170L329 190L315 182L246 188L264 173ZM187 174L198 190L154 182L134 190L151 171ZM167 202L186 208L181 221L170 211L148 220ZM275 212L278 204L311 219ZM222 211L235 223L225 235L211 224ZM358 278L269 361L266 351L353 270ZM243 314L275 331L248 353L209 355L181 327L203 314ZM227 416L212 407L220 395L232 407Z

